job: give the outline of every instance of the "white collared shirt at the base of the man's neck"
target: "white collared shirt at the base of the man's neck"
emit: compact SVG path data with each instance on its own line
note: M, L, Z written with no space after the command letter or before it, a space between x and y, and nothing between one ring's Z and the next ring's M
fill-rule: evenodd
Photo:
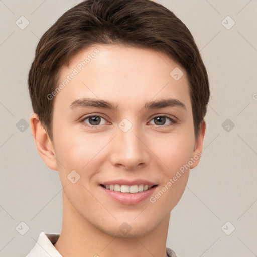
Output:
M32 250L26 255L26 257L62 257L59 251L54 247L60 234L50 234L41 232L37 243ZM177 257L175 252L166 247L168 257Z

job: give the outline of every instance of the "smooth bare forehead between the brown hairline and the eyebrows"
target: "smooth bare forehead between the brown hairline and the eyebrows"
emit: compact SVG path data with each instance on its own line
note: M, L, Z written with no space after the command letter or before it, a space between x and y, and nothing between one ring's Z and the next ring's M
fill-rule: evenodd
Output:
M166 97L190 103L185 70L167 55L151 49L91 46L77 53L69 67L61 69L61 84L55 100L63 108L83 97L118 101L124 108Z

